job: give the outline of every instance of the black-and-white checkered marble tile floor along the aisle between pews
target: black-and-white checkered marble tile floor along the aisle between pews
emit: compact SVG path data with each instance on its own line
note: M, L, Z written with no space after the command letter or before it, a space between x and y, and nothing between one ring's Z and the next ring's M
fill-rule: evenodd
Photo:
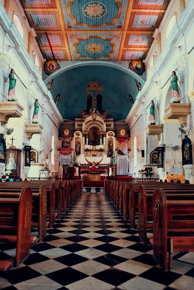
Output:
M151 233L149 233L151 235ZM11 243L0 244L0 259L14 257ZM142 244L100 189L85 189L79 199L48 229L7 279L6 290L193 289L194 253L176 253L173 269L162 272L152 247Z

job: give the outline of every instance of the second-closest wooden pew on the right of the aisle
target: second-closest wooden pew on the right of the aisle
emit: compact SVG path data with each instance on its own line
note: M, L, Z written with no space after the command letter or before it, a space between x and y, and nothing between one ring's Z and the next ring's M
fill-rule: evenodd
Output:
M171 186L172 187L172 186ZM140 185L138 190L138 230L139 238L146 243L147 229L152 229L152 190L146 190L144 185ZM165 189L167 200L194 200L194 187L191 190L177 188ZM150 223L151 222L151 223Z

